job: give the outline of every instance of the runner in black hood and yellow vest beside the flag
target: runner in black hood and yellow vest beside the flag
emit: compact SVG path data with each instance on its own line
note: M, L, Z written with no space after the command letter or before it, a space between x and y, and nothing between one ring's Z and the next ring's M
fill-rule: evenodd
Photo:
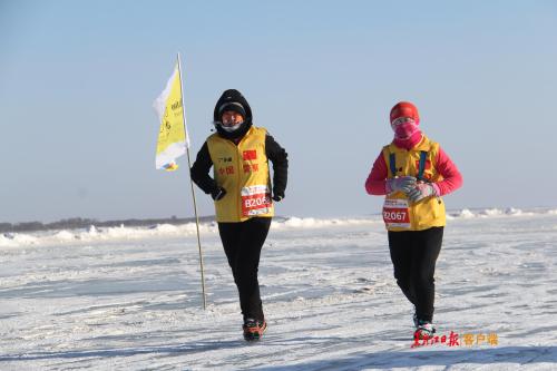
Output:
M274 215L273 202L284 198L286 152L261 127L252 125L252 109L237 90L223 92L215 106L216 133L192 166L192 178L215 201L223 247L232 267L244 316L244 338L260 339L266 330L257 270ZM271 182L268 160L273 163ZM208 175L213 167L213 178Z

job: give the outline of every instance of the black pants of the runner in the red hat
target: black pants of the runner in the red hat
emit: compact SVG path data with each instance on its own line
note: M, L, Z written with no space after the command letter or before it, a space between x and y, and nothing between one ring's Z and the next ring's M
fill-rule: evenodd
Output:
M424 231L389 231L394 277L422 321L433 320L436 262L441 252L443 227Z

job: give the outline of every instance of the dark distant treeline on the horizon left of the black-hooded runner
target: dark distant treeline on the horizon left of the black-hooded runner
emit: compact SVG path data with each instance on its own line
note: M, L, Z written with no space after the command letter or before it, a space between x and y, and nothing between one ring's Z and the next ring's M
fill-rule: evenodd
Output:
M213 222L214 216L202 216L199 222ZM48 231L48 230L80 230L88 228L91 225L96 227L114 227L114 226L152 226L157 224L186 224L195 223L195 217L176 217L172 216L169 218L159 219L125 219L125 221L107 221L99 222L97 219L88 219L82 217L72 217L69 219L61 219L53 223L41 223L41 222L25 222L25 223L0 223L0 233L6 232L33 232L33 231Z

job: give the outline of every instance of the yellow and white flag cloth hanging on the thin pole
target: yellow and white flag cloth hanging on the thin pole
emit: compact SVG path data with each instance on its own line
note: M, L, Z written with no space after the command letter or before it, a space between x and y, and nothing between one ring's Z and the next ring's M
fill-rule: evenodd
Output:
M155 160L157 169L177 169L176 158L184 155L186 147L189 147L189 136L187 135L182 102L182 79L178 64L176 64L166 88L153 105L160 123Z

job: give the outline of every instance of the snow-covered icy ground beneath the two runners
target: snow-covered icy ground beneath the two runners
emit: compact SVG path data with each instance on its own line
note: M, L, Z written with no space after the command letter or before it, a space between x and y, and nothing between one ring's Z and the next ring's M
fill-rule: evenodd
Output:
M377 216L273 224L253 344L214 225L206 311L193 225L0 235L0 370L556 370L557 211L452 215L418 348Z

